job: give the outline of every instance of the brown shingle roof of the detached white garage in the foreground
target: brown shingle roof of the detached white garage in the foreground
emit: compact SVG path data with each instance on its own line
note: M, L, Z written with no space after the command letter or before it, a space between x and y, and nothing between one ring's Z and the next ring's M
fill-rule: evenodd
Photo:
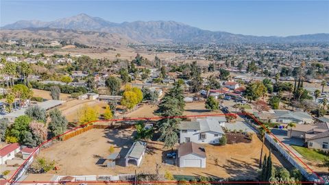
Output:
M204 151L204 147L197 143L183 143L182 145L180 145L180 147L178 147L178 158L191 153L201 158L206 158L206 151Z

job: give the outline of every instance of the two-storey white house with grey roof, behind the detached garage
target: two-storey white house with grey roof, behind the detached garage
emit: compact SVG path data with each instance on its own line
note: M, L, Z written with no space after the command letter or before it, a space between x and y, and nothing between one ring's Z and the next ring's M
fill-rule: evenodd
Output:
M179 129L180 143L217 144L225 134L220 120L216 117L197 119L197 121L182 121Z

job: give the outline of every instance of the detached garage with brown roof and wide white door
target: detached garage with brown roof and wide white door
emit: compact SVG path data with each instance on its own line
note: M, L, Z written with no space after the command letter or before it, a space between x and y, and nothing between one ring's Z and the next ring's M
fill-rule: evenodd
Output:
M178 148L180 167L206 168L206 151L197 143L183 143Z

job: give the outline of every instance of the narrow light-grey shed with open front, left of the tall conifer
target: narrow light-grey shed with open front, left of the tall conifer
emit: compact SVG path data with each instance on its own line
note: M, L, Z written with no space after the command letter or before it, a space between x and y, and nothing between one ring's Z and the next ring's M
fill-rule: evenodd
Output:
M145 154L147 143L143 141L136 141L132 144L132 147L129 149L127 155L125 156L125 166L128 166L130 160L136 161L137 167L141 164L143 156Z

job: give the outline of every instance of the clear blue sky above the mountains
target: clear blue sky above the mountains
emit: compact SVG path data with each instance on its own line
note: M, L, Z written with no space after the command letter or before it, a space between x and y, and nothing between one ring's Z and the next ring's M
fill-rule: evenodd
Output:
M178 21L257 36L329 33L329 1L12 1L0 0L0 25L86 13L114 23Z

